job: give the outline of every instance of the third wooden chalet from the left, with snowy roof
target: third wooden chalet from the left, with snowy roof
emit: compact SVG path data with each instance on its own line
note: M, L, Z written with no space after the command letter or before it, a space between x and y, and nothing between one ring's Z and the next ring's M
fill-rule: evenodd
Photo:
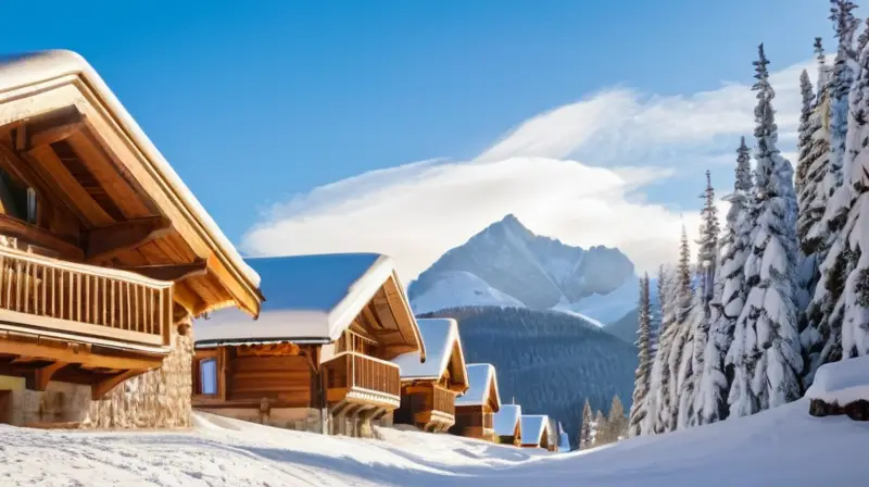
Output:
M455 424L455 397L468 389L458 325L452 319L417 320L426 361L418 352L392 360L401 367L401 407L394 422L443 433Z

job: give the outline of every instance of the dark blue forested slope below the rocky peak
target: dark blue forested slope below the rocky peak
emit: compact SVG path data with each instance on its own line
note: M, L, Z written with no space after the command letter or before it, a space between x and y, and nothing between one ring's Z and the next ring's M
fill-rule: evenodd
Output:
M606 411L618 395L626 410L630 408L637 349L585 320L508 308L423 315L429 316L458 320L465 360L495 366L502 401L515 397L524 412L551 415L571 438L579 430L585 399Z

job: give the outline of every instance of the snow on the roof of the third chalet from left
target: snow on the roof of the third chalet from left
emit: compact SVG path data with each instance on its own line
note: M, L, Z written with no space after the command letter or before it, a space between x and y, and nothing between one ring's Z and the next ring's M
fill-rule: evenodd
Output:
M450 365L453 347L458 342L458 324L453 319L424 319L416 323L426 347L426 361L419 361L419 352L408 352L392 359L392 363L401 369L401 378L437 380ZM461 345L458 351L462 353ZM465 363L464 355L462 363Z

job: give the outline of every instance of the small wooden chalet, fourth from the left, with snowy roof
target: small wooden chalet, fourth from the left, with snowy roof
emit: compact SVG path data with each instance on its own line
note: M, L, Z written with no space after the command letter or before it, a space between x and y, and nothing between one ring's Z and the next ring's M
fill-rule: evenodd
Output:
M470 387L455 400L455 425L450 433L494 441L493 416L501 409L495 367L473 363L466 370Z

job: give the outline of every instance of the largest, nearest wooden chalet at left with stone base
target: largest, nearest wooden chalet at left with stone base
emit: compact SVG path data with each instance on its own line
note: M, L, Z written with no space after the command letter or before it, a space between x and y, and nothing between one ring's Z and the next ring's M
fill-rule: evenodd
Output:
M190 316L256 315L261 300L256 274L83 58L0 60L0 422L189 424L189 400L172 403L187 369L177 380L164 366L189 353L177 337ZM159 367L126 405L91 403ZM161 403L144 397L161 387Z

